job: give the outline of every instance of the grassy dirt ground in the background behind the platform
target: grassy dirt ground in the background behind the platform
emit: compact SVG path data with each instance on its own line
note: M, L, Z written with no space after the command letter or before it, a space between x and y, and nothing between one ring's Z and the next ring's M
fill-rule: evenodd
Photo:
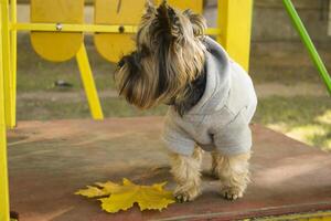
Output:
M163 115L166 106L147 112L117 96L114 64L103 60L85 40L106 117ZM317 45L331 70L331 42ZM252 45L250 70L259 97L255 122L322 149L331 149L331 99L300 42L259 42ZM56 81L72 84L55 86ZM88 118L89 110L75 60L50 63L19 36L18 118Z

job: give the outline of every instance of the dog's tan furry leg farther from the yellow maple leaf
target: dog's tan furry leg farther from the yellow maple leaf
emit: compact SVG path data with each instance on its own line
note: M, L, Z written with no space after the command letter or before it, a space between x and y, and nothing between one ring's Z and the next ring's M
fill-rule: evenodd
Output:
M249 182L250 152L236 156L213 154L215 172L221 181L221 194L228 200L242 198Z

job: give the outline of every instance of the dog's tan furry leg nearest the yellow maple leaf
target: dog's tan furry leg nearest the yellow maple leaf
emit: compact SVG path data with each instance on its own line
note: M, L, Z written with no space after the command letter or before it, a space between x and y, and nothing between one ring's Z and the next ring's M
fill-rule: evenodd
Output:
M203 150L195 147L192 156L170 155L171 173L178 186L174 197L179 202L194 200L201 191L201 162Z

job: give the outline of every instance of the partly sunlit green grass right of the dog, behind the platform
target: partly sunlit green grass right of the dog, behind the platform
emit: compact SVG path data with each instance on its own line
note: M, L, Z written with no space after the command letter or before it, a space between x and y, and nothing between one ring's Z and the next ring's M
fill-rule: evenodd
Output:
M330 97L279 97L259 101L255 122L307 144L331 150Z

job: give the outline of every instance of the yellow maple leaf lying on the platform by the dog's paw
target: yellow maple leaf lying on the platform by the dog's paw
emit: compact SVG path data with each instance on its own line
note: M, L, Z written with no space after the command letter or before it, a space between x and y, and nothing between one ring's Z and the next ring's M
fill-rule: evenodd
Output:
M128 210L136 202L140 210L162 210L174 201L172 192L163 188L166 182L152 186L138 186L128 179L122 180L122 185L114 182L96 183L97 187L87 186L87 189L78 190L76 194L87 198L106 197L99 199L103 210L115 213L119 210Z

